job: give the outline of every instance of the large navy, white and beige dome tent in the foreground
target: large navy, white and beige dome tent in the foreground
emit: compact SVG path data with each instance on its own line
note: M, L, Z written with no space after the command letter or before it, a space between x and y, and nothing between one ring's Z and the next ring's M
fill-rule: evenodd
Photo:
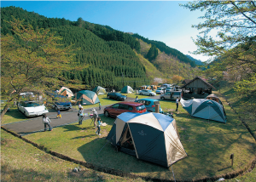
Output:
M160 113L124 112L116 118L106 139L119 151L166 168L187 156L175 119Z

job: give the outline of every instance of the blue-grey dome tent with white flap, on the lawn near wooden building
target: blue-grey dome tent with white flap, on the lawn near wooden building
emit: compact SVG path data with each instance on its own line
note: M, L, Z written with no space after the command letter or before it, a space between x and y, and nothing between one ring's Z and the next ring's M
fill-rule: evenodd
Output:
M183 108L189 112L191 117L200 117L217 122L226 122L226 114L223 105L214 100L194 99L180 100Z

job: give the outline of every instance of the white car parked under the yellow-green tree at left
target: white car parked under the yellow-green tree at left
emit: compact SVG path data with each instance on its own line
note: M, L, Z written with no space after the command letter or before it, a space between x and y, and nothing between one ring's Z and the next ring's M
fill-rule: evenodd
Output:
M39 105L35 101L20 101L18 111L23 113L26 117L37 117L49 112L44 105Z

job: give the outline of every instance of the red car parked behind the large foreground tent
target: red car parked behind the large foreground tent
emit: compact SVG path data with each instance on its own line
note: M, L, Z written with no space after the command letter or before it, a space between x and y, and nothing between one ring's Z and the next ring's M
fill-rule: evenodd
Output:
M137 102L119 102L104 109L105 117L117 117L123 112L146 112L145 105Z

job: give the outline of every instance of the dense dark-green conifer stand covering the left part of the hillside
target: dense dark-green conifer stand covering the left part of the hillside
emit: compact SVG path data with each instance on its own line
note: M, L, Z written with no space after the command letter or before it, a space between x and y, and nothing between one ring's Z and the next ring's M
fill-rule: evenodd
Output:
M123 84L137 87L149 83L144 66L139 61L133 48L140 51L139 43L130 34L114 31L108 26L99 26L85 22L70 21L57 18L46 18L34 12L8 7L0 9L0 33L11 34L6 21L24 20L34 29L49 28L56 36L61 36L64 46L74 44L78 48L76 64L88 65L83 71L64 72L67 79L79 79L90 88L102 87L121 88Z

